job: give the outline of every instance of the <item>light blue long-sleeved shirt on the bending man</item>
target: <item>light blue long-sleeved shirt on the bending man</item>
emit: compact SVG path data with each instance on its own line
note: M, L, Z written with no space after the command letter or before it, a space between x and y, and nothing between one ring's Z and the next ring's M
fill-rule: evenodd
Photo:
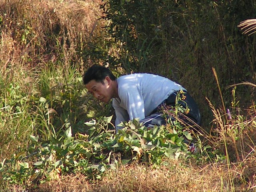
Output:
M119 98L112 100L116 112L116 129L122 128L117 126L120 122L144 119L170 94L186 90L168 78L147 73L121 76L117 84Z

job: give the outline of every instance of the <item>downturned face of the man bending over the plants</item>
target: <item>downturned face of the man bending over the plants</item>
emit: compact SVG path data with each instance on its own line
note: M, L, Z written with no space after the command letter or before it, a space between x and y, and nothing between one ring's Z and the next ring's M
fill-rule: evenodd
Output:
M88 91L101 102L108 103L110 99L112 99L112 91L108 77L104 79L104 84L102 84L102 82L91 80L85 86Z

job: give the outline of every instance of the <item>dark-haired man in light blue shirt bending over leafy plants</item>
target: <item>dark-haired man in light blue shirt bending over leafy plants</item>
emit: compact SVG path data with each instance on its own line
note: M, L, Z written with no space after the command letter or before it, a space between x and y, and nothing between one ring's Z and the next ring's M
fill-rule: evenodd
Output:
M176 104L185 109L179 115L184 124L200 124L200 113L193 98L185 88L168 78L138 73L116 79L108 68L93 65L84 74L83 81L88 91L99 101L108 103L112 99L116 130L122 128L118 126L120 122L134 118L139 118L147 127L165 125L163 108L173 110ZM169 118L175 119L171 114Z

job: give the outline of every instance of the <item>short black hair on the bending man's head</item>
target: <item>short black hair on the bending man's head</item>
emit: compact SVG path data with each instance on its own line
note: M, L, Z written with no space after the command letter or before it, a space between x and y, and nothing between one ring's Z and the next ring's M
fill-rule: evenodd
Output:
M116 80L116 77L108 68L95 64L86 71L83 77L83 81L85 85L88 84L91 80L104 83L103 80L106 76L108 76L112 81Z

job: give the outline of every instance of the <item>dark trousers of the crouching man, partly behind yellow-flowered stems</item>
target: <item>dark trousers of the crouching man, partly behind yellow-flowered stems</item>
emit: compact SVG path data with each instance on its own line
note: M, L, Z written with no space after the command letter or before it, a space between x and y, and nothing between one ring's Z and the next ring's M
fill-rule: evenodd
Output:
M172 121L176 120L177 116L174 116L174 110L177 99L178 105L182 106L184 109L189 109L184 113L178 112L178 119L185 125L200 125L201 116L194 99L184 91L183 93L179 93L178 97L177 94L177 92L171 94L155 110L153 110L149 116L140 120L140 122L146 127L153 127L154 125L166 125L166 118L170 118Z

